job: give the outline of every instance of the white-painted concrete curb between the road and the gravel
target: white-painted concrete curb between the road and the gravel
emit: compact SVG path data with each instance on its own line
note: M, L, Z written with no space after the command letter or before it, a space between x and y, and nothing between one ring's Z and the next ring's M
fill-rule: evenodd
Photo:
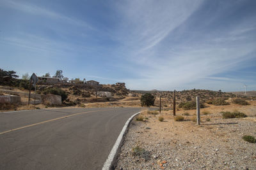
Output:
M115 145L113 146L111 152L110 152L109 155L108 155L108 159L106 160L106 162L104 163L104 166L102 167L102 170L109 170L109 169L110 169L110 167L111 167L111 165L112 165L112 162L113 162L113 160L115 159L116 152L117 152L117 150L118 150L118 148L119 148L119 146L120 146L120 143L121 143L121 141L122 141L122 138L124 137L124 133L125 133L125 131L126 131L128 125L130 124L132 118L135 117L136 115L138 115L139 113L141 113L141 111L138 112L138 113L135 113L134 115L132 115L132 116L127 120L127 122L125 123L125 125L124 125L122 131L120 132L118 138L116 139Z

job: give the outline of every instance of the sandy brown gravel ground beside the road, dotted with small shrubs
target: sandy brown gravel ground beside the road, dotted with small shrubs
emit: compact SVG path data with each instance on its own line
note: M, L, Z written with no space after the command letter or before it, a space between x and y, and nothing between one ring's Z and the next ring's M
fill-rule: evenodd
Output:
M149 114L145 122L134 119L116 169L256 169L256 143L242 139L256 137L256 107L248 107L247 118L222 119L216 112L203 115L201 125L190 121L193 115L176 122L168 112L164 122Z

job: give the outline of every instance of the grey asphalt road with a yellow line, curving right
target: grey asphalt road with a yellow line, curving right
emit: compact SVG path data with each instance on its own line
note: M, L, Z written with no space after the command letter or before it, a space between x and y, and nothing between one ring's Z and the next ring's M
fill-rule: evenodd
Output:
M0 113L0 169L102 169L140 108Z

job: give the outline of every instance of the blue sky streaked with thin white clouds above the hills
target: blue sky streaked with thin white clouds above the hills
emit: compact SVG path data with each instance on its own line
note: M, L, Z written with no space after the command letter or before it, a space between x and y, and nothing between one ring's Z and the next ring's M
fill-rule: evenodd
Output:
M256 1L0 1L0 68L129 89L256 90Z

